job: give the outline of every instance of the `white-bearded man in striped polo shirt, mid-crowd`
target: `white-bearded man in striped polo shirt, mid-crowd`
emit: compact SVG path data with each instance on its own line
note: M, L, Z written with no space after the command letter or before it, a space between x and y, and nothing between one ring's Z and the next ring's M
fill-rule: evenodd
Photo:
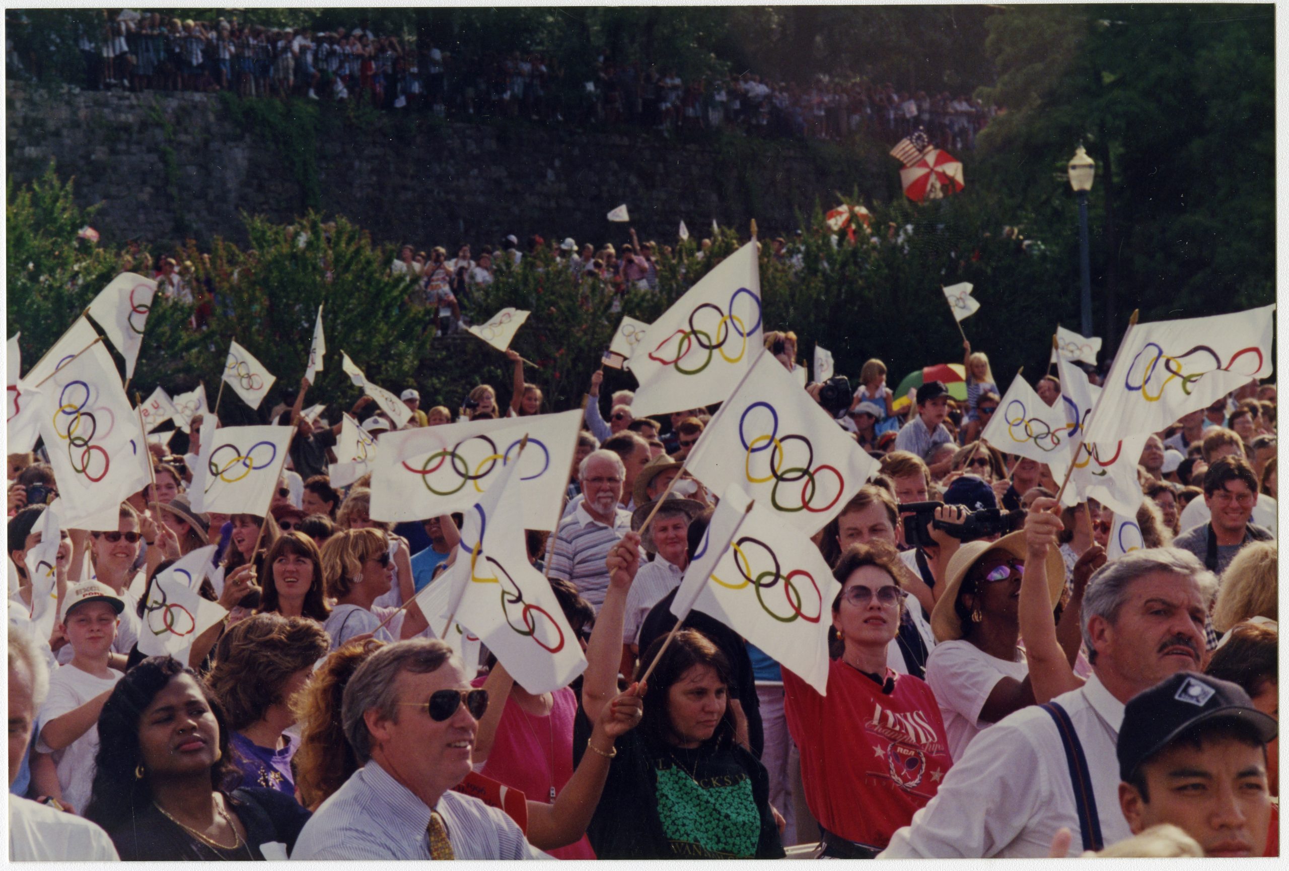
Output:
M593 450L577 467L577 477L585 498L559 521L550 577L570 581L599 612L608 590L608 550L632 529L632 512L617 507L626 467L612 450Z

